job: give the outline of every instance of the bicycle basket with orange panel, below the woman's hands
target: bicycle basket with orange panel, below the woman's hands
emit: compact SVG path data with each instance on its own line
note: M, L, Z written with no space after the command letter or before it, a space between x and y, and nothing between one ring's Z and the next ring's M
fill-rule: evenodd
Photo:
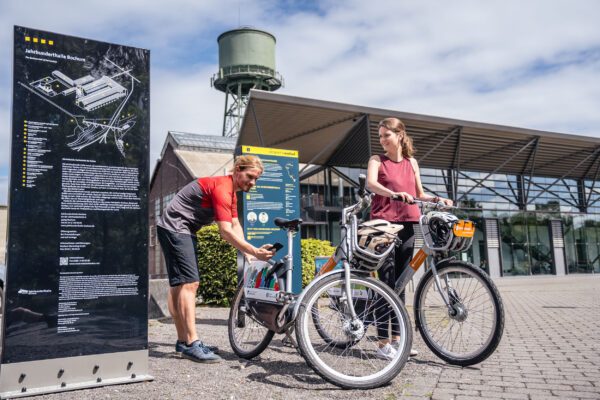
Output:
M454 214L431 211L419 221L423 239L432 250L465 251L473 241L473 222L459 220Z

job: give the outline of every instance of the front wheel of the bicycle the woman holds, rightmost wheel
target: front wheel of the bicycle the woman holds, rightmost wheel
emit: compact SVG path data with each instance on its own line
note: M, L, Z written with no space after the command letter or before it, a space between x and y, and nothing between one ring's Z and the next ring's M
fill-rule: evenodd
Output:
M446 306L432 270L415 292L415 323L438 357L453 365L473 365L488 358L502 338L504 307L498 289L485 272L466 262L436 266Z

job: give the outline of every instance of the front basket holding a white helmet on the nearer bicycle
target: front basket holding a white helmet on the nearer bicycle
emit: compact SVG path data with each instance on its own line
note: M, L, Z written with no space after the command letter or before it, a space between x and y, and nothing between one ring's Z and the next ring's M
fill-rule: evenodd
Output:
M356 267L369 271L378 270L385 261L391 246L394 246L396 236L402 225L392 224L382 219L363 222L358 226L357 243L359 249L355 252Z

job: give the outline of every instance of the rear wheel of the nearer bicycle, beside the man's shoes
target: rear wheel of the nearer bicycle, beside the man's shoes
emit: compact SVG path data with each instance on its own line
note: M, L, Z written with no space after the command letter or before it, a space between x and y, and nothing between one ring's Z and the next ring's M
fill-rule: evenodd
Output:
M227 330L229 344L233 352L241 358L252 359L262 353L275 332L269 330L254 318L245 313L241 308L244 306L244 287L240 284L233 296Z

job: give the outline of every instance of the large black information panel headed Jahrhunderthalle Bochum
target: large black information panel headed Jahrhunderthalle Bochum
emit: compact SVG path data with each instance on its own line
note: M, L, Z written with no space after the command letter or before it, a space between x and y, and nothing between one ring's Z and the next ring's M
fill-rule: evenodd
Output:
M2 364L147 349L149 63L15 27Z

